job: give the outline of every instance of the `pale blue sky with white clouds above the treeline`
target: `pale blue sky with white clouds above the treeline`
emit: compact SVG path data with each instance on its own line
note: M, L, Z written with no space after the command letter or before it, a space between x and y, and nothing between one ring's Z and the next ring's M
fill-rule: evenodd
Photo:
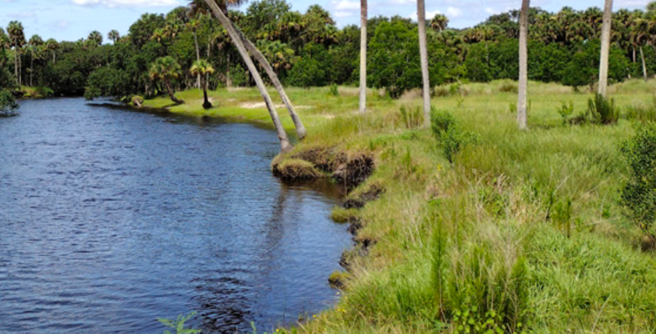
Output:
M358 24L359 0L287 0L293 10L304 12L318 4L329 10L338 26ZM440 12L449 17L449 26L464 28L485 20L490 14L520 7L520 0L425 0L426 17ZM614 10L644 9L648 0L615 0ZM74 41L85 38L92 30L105 39L108 31L127 33L129 26L144 12L168 12L185 0L0 0L0 26L11 20L22 22L26 36L39 34L43 39ZM369 17L399 14L417 17L416 0L368 0ZM604 7L603 0L533 0L532 6L557 11L564 6L575 9ZM242 7L242 10L248 4Z

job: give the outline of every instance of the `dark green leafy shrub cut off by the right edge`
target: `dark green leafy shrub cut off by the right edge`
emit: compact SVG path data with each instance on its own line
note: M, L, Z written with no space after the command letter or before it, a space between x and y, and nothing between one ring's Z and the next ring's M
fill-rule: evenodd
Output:
M656 241L656 124L638 127L636 135L622 146L630 174L622 189L626 215Z

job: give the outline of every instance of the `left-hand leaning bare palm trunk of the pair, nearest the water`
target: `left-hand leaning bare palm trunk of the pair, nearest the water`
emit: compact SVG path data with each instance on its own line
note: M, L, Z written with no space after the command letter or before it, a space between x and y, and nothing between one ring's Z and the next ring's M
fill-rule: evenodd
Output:
M251 60L251 56L249 56L248 51L246 51L246 48L241 42L239 33L237 33L235 30L232 22L230 22L230 19L228 19L228 17L223 14L222 10L218 8L218 5L216 5L214 0L205 0L205 3L207 3L207 5L212 9L212 12L214 12L221 25L226 28L228 35L230 35L235 47L237 47L237 51L239 51L239 54L241 54L241 58L243 58L246 66L251 72L251 75L253 75L253 79L255 79L257 88L259 89L260 94L262 94L262 98L264 98L264 102L266 103L266 108L269 110L269 115L274 122L274 127L276 128L276 133L278 135L278 139L280 140L281 152L285 153L291 151L294 146L291 144L291 142L289 142L289 138L287 138L287 133L285 133L285 129L283 128L283 125L280 122L280 118L276 112L276 106L274 106L274 102L271 100L271 96L269 96L268 91L266 91L266 87L264 87L264 81L262 81L260 73L257 72L257 68L253 63L253 60Z

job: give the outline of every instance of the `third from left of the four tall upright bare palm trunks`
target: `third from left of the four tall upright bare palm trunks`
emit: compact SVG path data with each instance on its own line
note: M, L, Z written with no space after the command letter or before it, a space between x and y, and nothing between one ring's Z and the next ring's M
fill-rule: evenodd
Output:
M528 84L527 30L530 2L530 0L522 0L522 10L520 12L520 82L517 94L517 123L520 130L528 128L526 92Z

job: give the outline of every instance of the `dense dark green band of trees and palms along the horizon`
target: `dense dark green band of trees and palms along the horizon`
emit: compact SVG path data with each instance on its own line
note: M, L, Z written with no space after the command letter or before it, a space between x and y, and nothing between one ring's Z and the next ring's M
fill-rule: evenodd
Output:
M143 14L125 36L108 31L106 40L111 45L102 44L100 31L91 31L79 41L44 42L38 36L26 41L22 24L12 21L0 31L1 73L16 85L46 86L58 95L152 96L165 89L158 89L149 70L157 58L170 56L180 64L180 75L170 79L173 89L197 87L198 75L190 69L199 58L215 69L207 75L209 89L252 85L232 40L203 3L190 1L188 7L166 15ZM357 26L338 29L319 5L297 12L285 0L260 0L238 12L228 10L230 3L222 3L222 8L254 41L284 84L358 84ZM594 85L602 14L598 8L564 7L558 12L531 8L529 79L575 87ZM518 16L518 10L510 10L464 30L449 29L443 15L427 18L431 85L517 79ZM369 18L367 39L369 87L400 96L422 85L416 22L400 16ZM609 82L651 77L656 73L655 50L655 10L615 12Z

